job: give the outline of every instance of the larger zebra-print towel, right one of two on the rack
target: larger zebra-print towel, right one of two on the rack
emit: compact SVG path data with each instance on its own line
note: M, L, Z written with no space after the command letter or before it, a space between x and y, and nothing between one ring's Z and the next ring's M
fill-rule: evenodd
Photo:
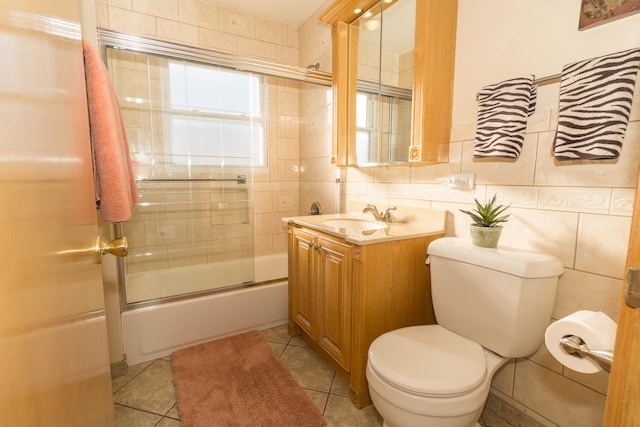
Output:
M620 156L638 69L640 49L563 67L554 143L557 160Z

